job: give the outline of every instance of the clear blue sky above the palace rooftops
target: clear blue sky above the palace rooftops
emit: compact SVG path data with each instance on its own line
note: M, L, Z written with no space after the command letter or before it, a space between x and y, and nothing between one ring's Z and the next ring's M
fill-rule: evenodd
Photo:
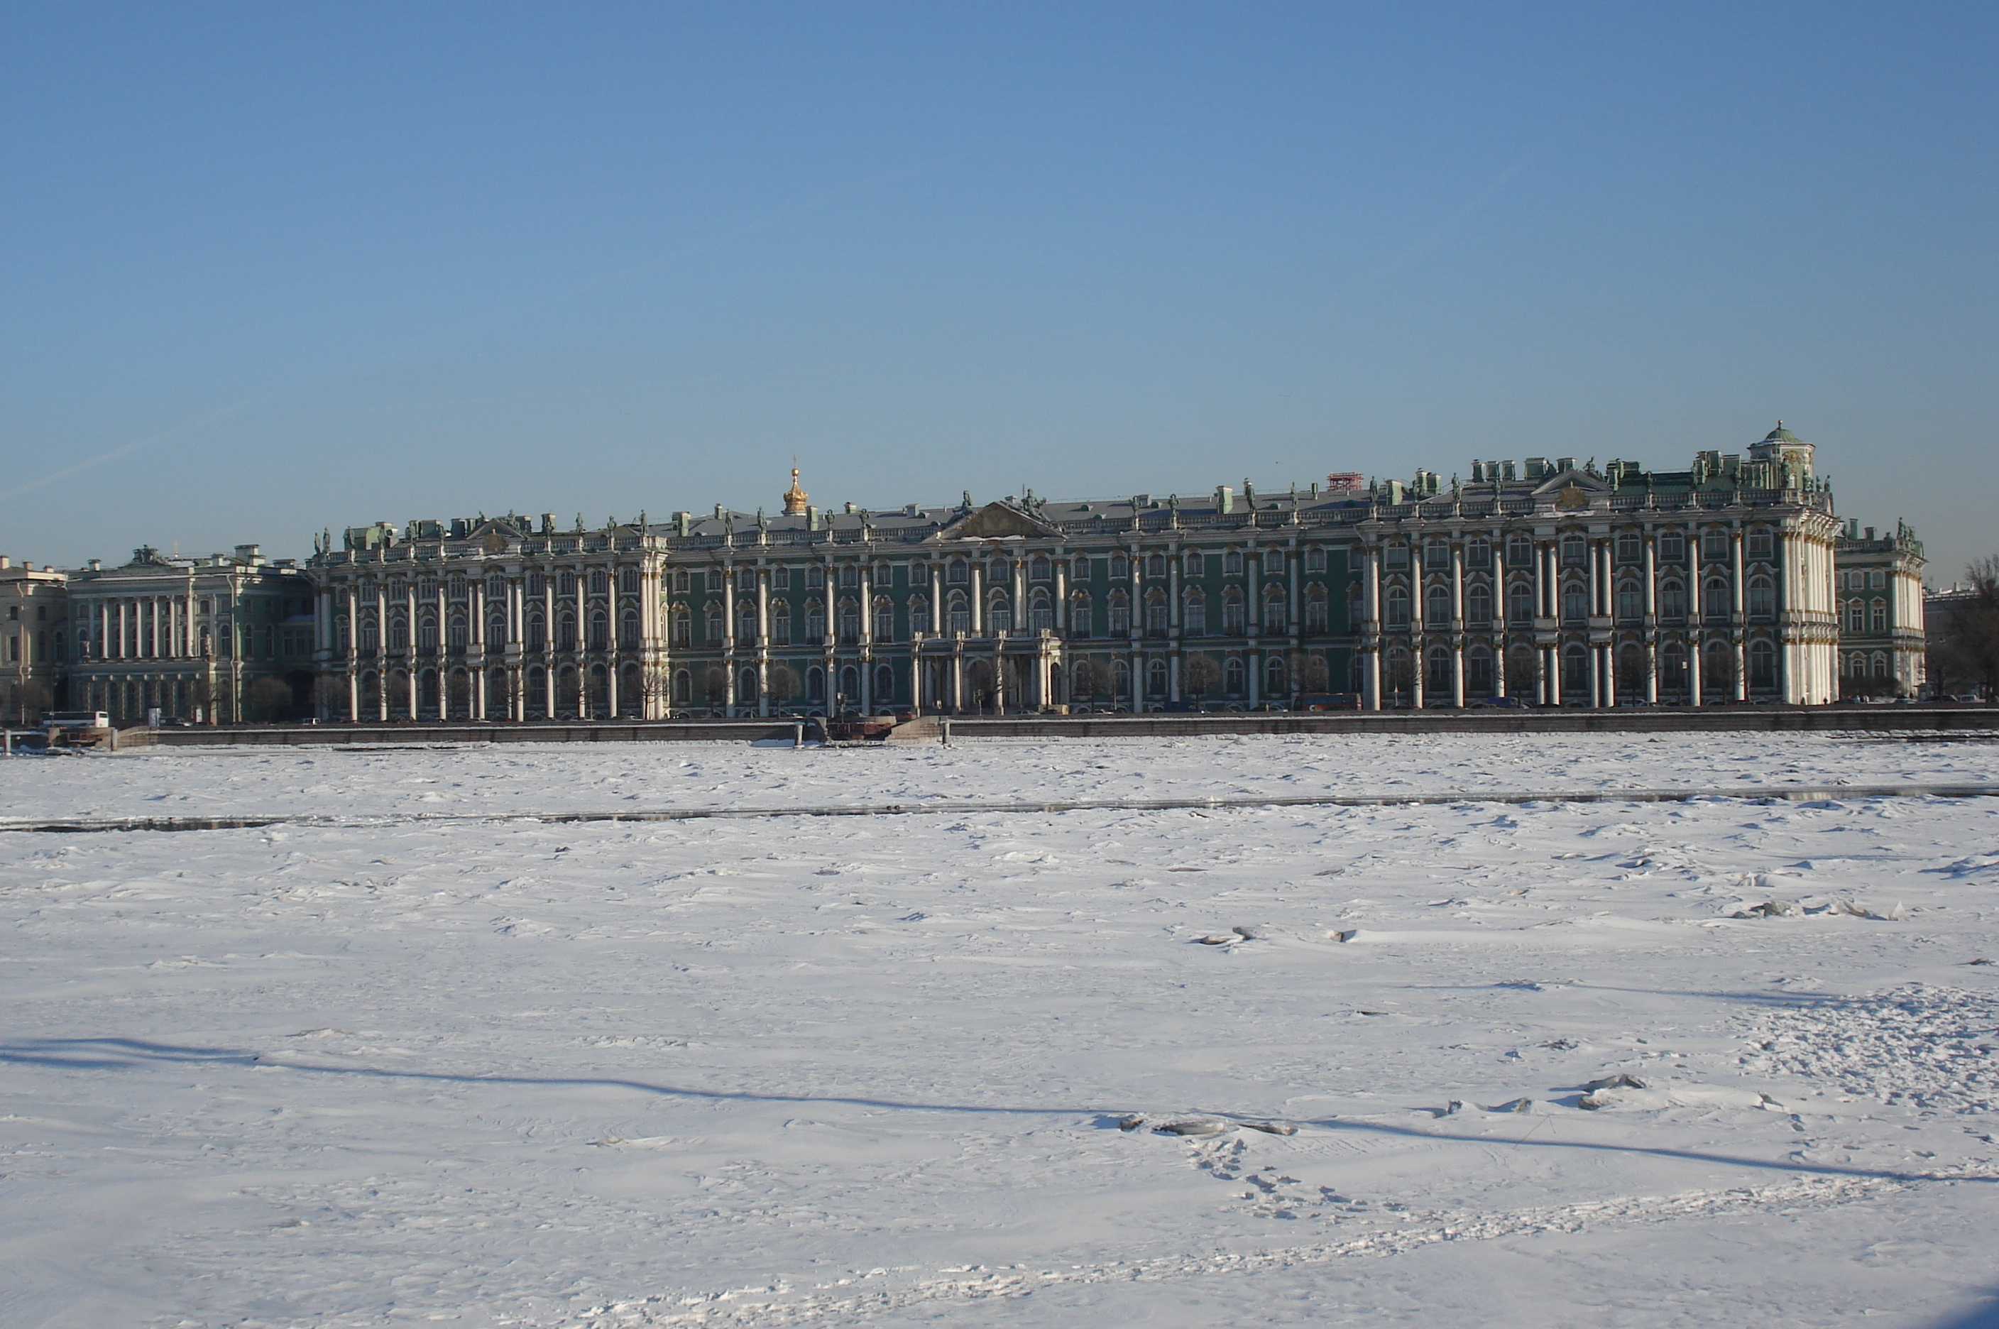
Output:
M872 508L1679 468L1781 416L1949 582L1999 552L1995 38L1991 4L0 4L0 552L776 508L794 454Z

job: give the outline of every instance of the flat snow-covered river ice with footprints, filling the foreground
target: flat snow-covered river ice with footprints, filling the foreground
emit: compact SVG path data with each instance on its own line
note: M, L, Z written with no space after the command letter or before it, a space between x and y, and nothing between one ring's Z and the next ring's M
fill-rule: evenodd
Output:
M380 817L0 833L0 1323L1945 1323L1999 1287L1999 799L1753 795L1995 773L1829 735L0 763L6 819ZM1315 791L1467 799L534 819Z

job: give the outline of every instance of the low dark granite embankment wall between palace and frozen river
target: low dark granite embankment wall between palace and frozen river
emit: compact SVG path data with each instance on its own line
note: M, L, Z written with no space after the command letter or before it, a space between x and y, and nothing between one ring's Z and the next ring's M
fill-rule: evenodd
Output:
M1701 709L1327 711L1281 715L1025 715L952 717L952 737L1191 737L1201 733L1979 733L1999 731L1999 705L1745 705ZM646 723L392 723L230 729L124 729L122 749L150 745L284 743L396 747L424 743L686 743L792 741L790 719L666 719Z

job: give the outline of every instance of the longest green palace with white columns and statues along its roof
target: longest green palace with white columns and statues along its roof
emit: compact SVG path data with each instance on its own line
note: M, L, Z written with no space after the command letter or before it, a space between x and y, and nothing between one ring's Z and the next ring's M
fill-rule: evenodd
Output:
M1841 536L1781 426L1681 472L1473 462L888 512L350 528L312 560L330 717L1837 697Z

